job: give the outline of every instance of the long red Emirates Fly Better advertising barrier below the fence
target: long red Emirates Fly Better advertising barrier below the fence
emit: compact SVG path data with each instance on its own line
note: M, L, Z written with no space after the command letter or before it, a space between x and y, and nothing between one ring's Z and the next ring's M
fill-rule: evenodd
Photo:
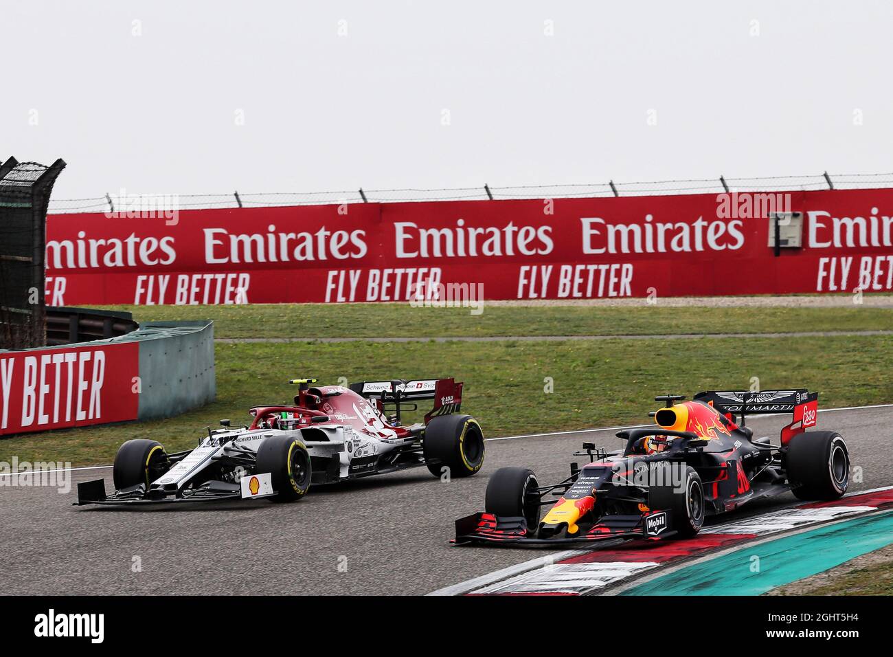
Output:
M46 262L54 306L890 291L893 190L54 215Z

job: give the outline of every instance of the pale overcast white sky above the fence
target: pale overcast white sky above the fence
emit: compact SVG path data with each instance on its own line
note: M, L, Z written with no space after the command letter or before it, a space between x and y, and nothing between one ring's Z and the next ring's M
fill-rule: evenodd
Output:
M62 156L54 198L888 173L891 35L843 0L0 0L0 159Z

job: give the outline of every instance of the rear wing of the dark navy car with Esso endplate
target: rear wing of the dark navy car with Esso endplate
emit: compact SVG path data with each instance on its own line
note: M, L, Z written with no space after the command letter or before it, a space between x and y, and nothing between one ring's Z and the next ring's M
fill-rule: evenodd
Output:
M815 426L818 421L819 393L809 392L805 388L698 392L694 400L709 404L723 415L739 415L741 426L745 425L746 415L793 414L792 422L781 429L782 445L787 445L791 438L803 433L807 427Z

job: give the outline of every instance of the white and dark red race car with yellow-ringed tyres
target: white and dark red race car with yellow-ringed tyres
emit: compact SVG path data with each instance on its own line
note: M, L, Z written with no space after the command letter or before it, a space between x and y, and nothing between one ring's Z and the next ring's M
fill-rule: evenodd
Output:
M251 425L207 429L194 450L168 454L159 442L131 440L114 459L114 493L104 480L78 484L77 504L156 504L238 498L300 500L311 484L427 466L434 476L471 476L484 461L477 420L460 415L463 383L453 379L310 387L294 379L292 404L263 404ZM434 400L424 421L401 414Z

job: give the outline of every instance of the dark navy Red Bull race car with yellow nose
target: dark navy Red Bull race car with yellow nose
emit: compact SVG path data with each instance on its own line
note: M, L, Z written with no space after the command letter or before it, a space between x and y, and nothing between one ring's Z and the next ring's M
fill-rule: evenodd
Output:
M847 491L847 443L816 424L818 393L699 392L655 397L655 425L617 433L621 451L584 442L571 476L541 486L530 469L502 467L490 477L486 512L455 522L455 543L587 543L696 535L706 516L791 491L832 500ZM745 416L792 413L780 444L754 438ZM736 422L736 416L739 417ZM547 500L547 495L558 497ZM540 510L551 506L540 520Z

